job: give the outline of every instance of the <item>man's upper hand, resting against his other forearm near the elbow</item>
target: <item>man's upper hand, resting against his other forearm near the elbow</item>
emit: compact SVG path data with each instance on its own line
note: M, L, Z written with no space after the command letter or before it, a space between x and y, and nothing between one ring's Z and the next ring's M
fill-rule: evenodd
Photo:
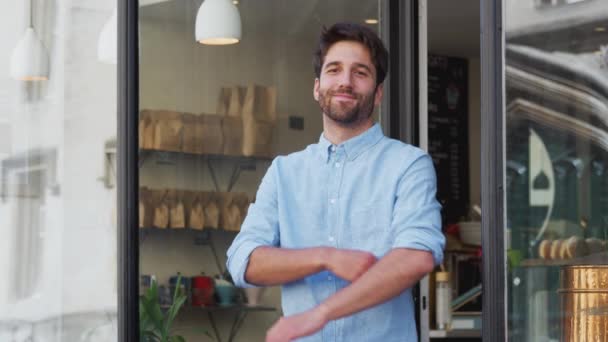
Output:
M369 252L352 249L332 249L327 255L325 268L336 276L353 282L377 261Z

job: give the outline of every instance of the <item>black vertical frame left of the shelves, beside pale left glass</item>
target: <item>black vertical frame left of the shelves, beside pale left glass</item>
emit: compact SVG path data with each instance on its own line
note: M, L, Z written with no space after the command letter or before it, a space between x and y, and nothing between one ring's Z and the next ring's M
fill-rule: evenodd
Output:
M118 340L139 341L138 0L118 0Z

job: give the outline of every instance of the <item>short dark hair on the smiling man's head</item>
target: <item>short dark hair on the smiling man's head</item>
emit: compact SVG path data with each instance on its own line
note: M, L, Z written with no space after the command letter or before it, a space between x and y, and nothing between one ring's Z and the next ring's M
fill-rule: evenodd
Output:
M321 76L321 68L325 62L325 56L329 48L340 41L353 41L363 44L369 50L369 54L376 68L376 86L384 81L388 71L388 51L382 40L371 29L353 23L337 23L327 29L323 26L317 50L313 55L315 75Z

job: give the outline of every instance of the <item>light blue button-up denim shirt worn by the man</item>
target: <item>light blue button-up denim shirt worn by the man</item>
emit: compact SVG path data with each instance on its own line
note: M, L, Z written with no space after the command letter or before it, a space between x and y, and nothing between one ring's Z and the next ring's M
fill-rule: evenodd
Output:
M321 134L319 143L272 162L228 250L228 269L237 286L252 286L244 275L259 246L331 246L378 258L393 248L411 248L431 252L440 263L445 239L436 188L429 155L385 137L378 124L338 146ZM285 284L283 312L290 316L312 309L348 285L329 271ZM417 340L408 289L298 341Z

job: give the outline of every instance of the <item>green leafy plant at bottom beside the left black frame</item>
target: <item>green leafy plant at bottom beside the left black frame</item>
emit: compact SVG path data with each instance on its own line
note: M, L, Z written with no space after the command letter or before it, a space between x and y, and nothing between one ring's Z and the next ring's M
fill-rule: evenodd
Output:
M139 336L141 342L185 342L180 335L174 335L171 326L179 310L186 302L186 294L180 290L181 276L178 277L173 293L173 303L166 310L160 306L158 285L152 282L150 288L139 297ZM164 312L163 312L164 311Z

